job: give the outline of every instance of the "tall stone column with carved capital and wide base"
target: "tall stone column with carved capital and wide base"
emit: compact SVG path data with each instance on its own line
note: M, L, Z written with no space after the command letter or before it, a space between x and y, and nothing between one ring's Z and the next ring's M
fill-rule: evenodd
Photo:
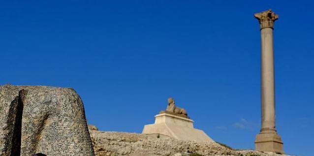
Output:
M283 154L283 141L275 126L275 81L273 29L278 19L272 10L254 14L261 32L261 105L262 128L256 135L255 149Z

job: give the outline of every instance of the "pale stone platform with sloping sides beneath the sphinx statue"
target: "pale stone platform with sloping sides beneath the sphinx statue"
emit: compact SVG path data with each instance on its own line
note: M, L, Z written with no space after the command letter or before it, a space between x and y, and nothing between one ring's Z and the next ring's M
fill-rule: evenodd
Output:
M155 116L155 124L145 125L143 134L163 134L179 140L214 142L203 130L195 129L193 121L173 114Z

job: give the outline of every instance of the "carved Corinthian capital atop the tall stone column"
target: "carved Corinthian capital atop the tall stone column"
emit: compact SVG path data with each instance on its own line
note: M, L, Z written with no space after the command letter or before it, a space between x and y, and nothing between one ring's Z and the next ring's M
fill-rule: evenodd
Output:
M275 14L271 9L254 14L254 17L258 19L260 29L272 28L274 29L274 22L278 19L278 15Z

